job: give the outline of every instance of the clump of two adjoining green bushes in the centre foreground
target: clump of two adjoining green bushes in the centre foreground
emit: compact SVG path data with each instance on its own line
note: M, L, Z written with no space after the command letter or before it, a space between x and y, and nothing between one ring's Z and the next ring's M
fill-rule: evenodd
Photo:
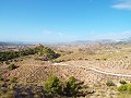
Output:
M75 97L79 95L85 95L80 84L73 76L71 76L66 83L62 83L57 76L52 75L44 84L44 88L48 95L61 95L68 97Z

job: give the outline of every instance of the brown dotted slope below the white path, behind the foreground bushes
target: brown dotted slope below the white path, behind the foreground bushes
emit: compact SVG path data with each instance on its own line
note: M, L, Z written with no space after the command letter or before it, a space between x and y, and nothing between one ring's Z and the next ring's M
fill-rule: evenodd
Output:
M55 66L55 65L43 65L43 66L31 66L23 65L19 69L11 71L4 76L19 77L20 83L38 83L43 84L51 74L56 74L61 79L67 79L70 76L74 76L80 81L90 84L105 84L107 81L112 81L119 83L120 79L131 81L128 77L118 77L112 75L106 75L97 73L95 71L85 68L70 68L70 66Z

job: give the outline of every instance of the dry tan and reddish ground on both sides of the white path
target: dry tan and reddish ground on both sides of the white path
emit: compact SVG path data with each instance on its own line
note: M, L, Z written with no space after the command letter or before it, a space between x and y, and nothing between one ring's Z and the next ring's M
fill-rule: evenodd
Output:
M115 76L87 69L93 68L106 73L131 75L131 48L129 46L119 46L119 48L100 47L97 50L91 48L71 49L56 49L57 52L61 53L61 57L57 59L57 61L62 61L59 63L61 65L55 65L50 61L37 60L36 56L27 56L12 61L19 66L12 71L7 71L8 63L1 63L0 74L5 78L17 77L20 84L38 85L43 85L52 74L57 75L62 82L70 76L74 76L88 85L90 90L95 90L91 98L107 98L107 95L108 98L116 98L119 93L116 87L109 88L106 86L108 81L112 81L117 86L120 85L120 81L131 82L131 77Z

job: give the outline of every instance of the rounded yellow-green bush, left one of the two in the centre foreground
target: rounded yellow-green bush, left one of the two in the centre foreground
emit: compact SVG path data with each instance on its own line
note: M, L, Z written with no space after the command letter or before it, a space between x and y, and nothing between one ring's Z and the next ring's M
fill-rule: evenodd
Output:
M61 82L55 75L50 76L50 78L45 83L44 87L49 94L60 94L62 89Z

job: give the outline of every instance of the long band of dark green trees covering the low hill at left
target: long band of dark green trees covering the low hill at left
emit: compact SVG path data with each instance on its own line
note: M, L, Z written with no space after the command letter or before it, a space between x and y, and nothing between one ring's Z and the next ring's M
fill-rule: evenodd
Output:
M35 54L35 53L38 53L39 56L43 56L49 60L56 59L60 56L48 47L39 46L36 48L27 48L27 49L22 49L19 51L13 51L13 50L0 51L0 61L8 61L8 60L15 59L19 57L24 57L24 56L29 56L29 54Z

